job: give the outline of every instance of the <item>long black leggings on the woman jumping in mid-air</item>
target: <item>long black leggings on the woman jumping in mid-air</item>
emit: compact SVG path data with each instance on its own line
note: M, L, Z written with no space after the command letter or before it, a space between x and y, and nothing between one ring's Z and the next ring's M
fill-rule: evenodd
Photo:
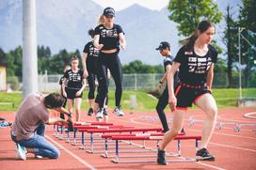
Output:
M108 80L106 70L109 69L110 73L115 81L116 85L116 106L120 106L121 94L122 94L122 70L120 66L120 57L118 53L114 54L104 54L100 53L98 56L98 72L97 78L99 81L98 94L96 97L96 102L99 103L99 107L104 107L104 99L108 92Z

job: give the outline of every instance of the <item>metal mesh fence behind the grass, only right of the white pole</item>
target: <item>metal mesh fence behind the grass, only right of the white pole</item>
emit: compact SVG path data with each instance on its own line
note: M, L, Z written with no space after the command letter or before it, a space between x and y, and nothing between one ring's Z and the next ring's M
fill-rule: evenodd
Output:
M59 79L62 75L39 75L39 90L40 91L52 91L59 90L60 85L58 85ZM162 78L163 74L123 74L123 89L124 90L152 90L158 85L159 80ZM248 85L245 85L243 80L243 87L256 87L256 78L251 77L248 81ZM233 87L238 87L239 79L238 76L233 78ZM213 83L214 88L221 88L228 86L228 76L226 73L216 73ZM115 89L115 83L113 78L110 78L109 89Z

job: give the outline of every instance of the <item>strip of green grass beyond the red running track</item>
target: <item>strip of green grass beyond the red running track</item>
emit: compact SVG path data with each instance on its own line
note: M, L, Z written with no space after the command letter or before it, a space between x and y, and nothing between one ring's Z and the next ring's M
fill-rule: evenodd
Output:
M256 98L256 88L243 89L243 97ZM131 109L130 96L136 95L136 111L152 111L155 108L157 99L148 95L144 91L123 91L122 108L124 110ZM214 89L213 95L216 99L218 107L236 107L238 89L237 88L221 88ZM15 111L22 101L22 92L5 93L0 92L0 111ZM88 110L88 91L84 92L82 110ZM4 102L4 103L3 103ZM12 105L14 104L14 107ZM109 104L111 108L115 105L115 93L109 91Z

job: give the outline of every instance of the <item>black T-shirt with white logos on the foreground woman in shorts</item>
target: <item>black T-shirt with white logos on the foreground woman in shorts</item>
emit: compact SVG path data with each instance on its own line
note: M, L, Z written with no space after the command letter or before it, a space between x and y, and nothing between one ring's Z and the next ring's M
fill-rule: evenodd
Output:
M188 85L204 85L206 83L207 72L216 63L217 51L212 45L208 45L208 52L204 56L197 55L194 50L187 50L183 46L174 61L181 63L179 79Z

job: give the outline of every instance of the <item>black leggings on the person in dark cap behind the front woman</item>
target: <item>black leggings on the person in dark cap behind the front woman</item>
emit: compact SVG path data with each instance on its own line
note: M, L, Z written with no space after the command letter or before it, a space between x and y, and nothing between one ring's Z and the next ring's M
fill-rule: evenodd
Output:
M164 131L168 131L168 120L164 112L167 105L168 105L168 86L165 88L164 92L160 96L156 105L156 112L160 118Z

